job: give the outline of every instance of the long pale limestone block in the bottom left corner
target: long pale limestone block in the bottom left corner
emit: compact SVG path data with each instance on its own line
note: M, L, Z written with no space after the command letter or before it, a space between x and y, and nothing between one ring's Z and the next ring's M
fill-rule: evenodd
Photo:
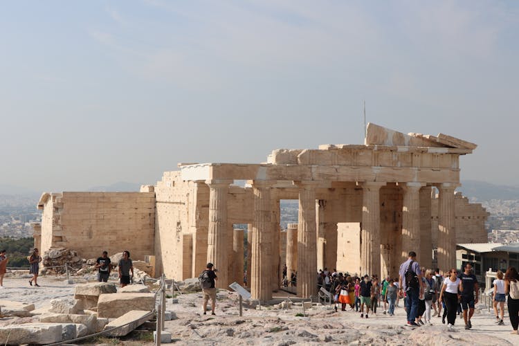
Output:
M0 340L6 345L58 343L62 341L62 334L63 325L60 323L24 323L0 327Z

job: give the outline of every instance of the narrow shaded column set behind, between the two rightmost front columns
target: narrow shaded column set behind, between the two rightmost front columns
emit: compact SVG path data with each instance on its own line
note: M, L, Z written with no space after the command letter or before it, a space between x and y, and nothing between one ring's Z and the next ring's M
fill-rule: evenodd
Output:
M420 265L432 268L432 237L430 234L430 186L420 189Z

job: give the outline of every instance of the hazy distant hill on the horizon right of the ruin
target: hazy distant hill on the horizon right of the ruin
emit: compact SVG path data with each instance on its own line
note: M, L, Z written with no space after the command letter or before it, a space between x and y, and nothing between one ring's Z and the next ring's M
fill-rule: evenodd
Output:
M519 188L507 185L494 185L485 181L465 180L457 190L463 192L464 196L471 199L475 197L478 201L490 201L491 199L519 200Z

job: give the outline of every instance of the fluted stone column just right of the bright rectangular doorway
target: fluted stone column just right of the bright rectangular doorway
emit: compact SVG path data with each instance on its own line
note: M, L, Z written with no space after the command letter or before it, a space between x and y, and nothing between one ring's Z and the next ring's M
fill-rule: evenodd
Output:
M380 188L385 183L365 182L362 199L361 275L381 277Z

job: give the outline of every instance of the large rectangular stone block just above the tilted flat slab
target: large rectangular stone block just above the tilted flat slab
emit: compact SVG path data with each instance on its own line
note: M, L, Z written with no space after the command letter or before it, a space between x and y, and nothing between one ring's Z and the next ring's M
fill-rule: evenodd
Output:
M118 318L132 310L152 311L154 293L102 294L98 300L98 317Z

